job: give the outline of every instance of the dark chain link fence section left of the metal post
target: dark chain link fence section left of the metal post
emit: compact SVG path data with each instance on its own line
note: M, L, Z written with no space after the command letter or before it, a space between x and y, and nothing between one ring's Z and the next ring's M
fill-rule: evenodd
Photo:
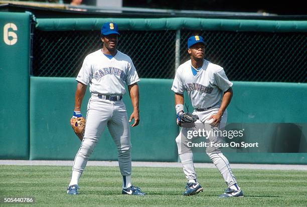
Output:
M141 78L173 78L176 31L121 31L118 50L133 61ZM34 35L34 76L76 77L86 55L102 48L99 31Z

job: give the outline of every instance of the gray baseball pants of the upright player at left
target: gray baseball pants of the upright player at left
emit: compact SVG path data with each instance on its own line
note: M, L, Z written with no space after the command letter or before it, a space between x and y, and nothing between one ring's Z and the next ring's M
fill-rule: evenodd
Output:
M130 128L123 101L109 101L92 96L87 106L84 138L76 154L73 170L83 172L105 127L116 144L122 175L131 175Z

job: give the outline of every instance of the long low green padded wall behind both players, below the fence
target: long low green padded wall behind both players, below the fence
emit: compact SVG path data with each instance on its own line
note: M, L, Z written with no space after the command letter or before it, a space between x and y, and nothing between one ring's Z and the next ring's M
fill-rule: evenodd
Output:
M177 161L175 138L179 127L175 122L174 93L171 79L141 79L140 124L131 128L132 159L141 161ZM31 77L30 96L30 159L73 159L80 141L74 134L69 119L74 107L74 78ZM305 123L304 110L292 110L307 101L307 84L234 82L234 97L228 108L230 122L274 124L278 122ZM89 92L82 105L86 114ZM294 97L301 99L294 99ZM129 96L124 96L128 115L131 113ZM187 101L189 105L189 101ZM282 103L282 104L281 104ZM190 105L190 110L192 110ZM253 109L253 110L251 110ZM269 110L271 109L271 110ZM295 117L295 118L294 118ZM267 125L263 137L269 137L273 125ZM258 133L257 129L253 133ZM306 131L302 132L305 134ZM301 135L301 142L306 137ZM302 140L304 139L304 140ZM273 142L268 142L273 145ZM277 142L276 142L277 143ZM305 144L304 144L305 145ZM305 148L298 153L256 153L232 150L226 152L234 163L295 163L304 164ZM116 160L116 147L106 130L99 140L91 160ZM195 153L195 161L211 162L205 153Z

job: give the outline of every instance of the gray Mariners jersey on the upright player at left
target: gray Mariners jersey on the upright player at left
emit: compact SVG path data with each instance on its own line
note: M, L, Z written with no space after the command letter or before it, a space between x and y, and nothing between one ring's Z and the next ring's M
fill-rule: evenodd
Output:
M129 56L117 51L110 60L99 49L85 57L76 80L89 84L91 93L124 95L125 84L136 83L139 78Z

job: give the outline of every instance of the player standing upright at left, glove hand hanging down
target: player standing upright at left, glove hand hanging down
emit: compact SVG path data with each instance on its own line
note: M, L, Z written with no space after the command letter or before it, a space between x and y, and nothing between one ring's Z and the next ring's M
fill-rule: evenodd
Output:
M123 177L122 194L145 195L131 184L131 143L126 107L122 96L128 86L133 112L129 122L132 127L139 123L139 81L132 60L116 49L118 29L115 23L105 23L101 28L103 48L85 57L76 78L75 110L73 118L80 117L81 103L87 85L91 98L87 105L86 126L81 146L76 154L68 194L78 194L78 181L101 134L107 126L116 144L118 164Z

